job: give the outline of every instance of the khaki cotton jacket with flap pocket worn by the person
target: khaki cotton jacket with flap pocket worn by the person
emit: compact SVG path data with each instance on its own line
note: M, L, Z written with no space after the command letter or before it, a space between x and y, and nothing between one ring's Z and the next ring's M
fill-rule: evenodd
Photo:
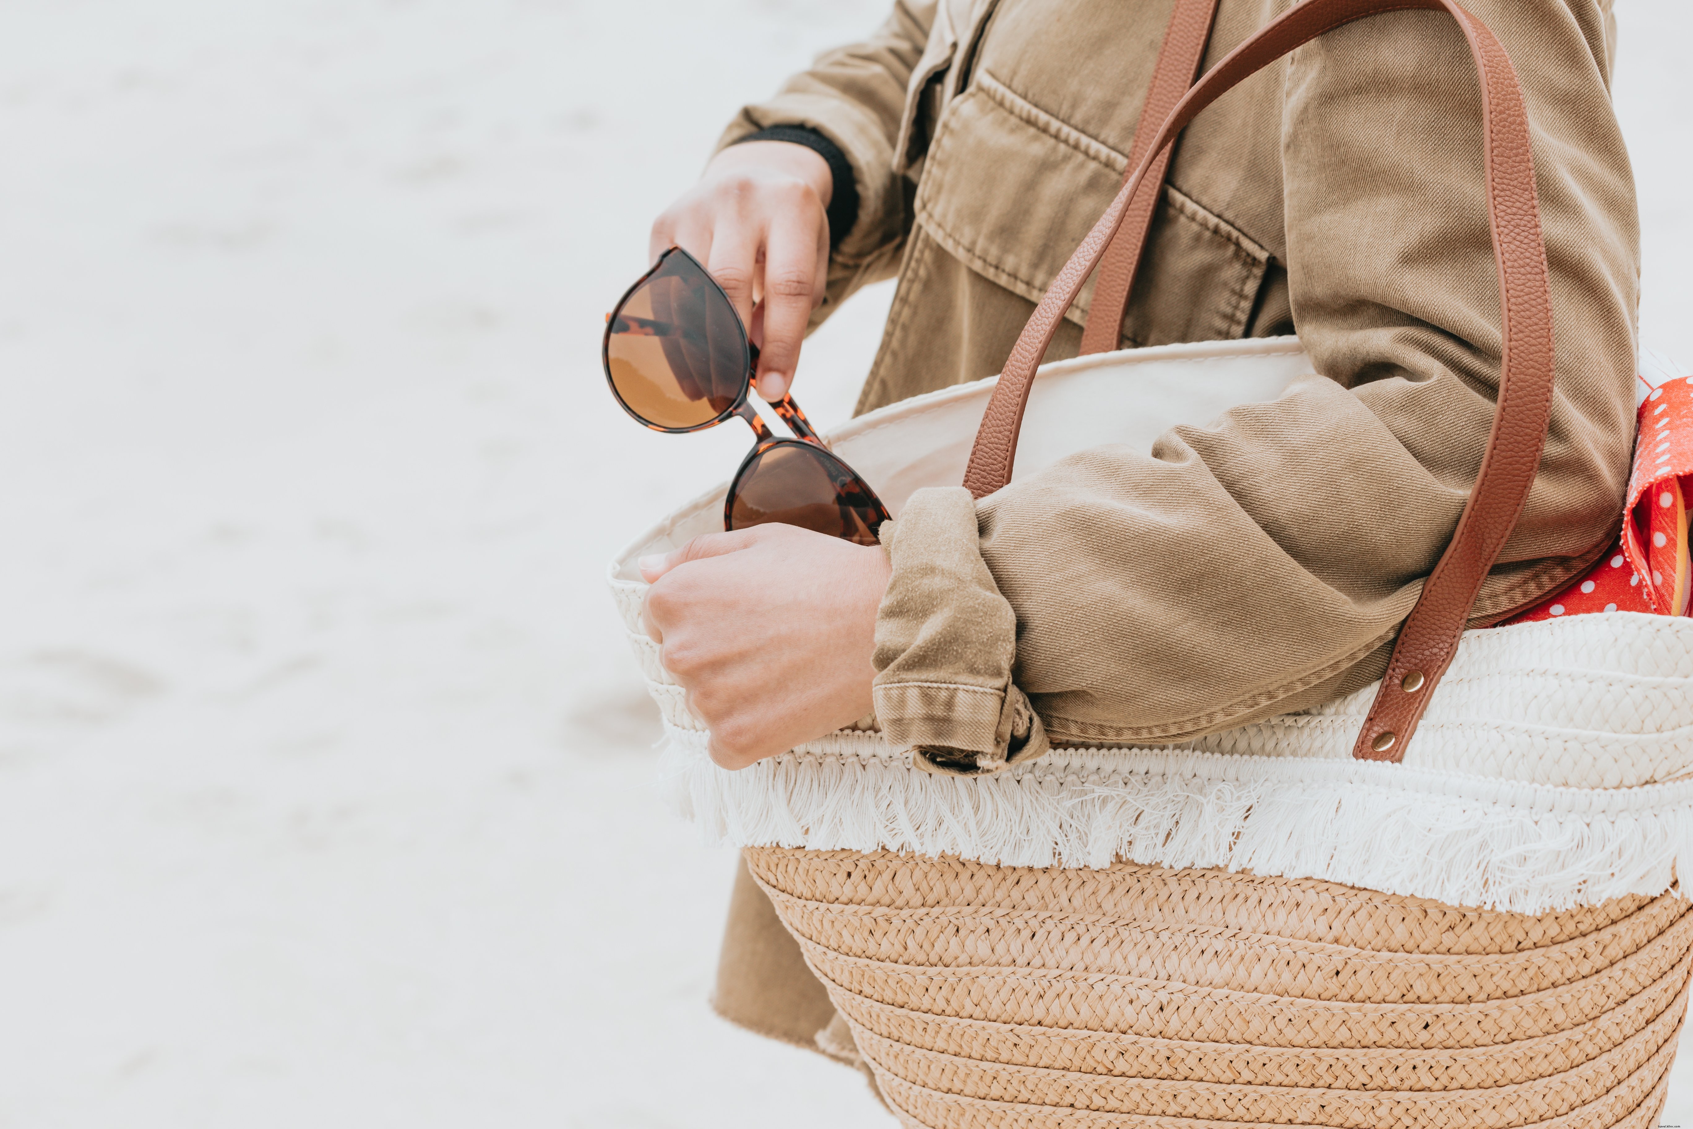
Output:
M725 144L809 125L853 164L860 212L818 318L899 276L860 410L999 371L1116 193L1170 7L901 0L730 125ZM1287 7L1222 0L1207 66ZM1617 533L1639 235L1608 3L1468 7L1527 95L1558 350L1551 437L1476 604L1485 623ZM884 533L875 706L891 740L994 770L1028 731L1024 702L1053 741L1178 741L1381 675L1493 416L1480 134L1470 54L1432 12L1331 32L1185 130L1122 342L1297 332L1315 372L1151 452L1082 452L980 504L914 496ZM1089 298L1048 359L1075 354Z

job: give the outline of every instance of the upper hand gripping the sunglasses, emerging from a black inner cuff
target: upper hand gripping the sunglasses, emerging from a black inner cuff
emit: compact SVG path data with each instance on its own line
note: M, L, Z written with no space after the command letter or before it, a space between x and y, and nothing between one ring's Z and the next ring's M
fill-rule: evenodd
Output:
M830 269L828 161L786 140L730 146L652 225L652 259L672 245L706 264L758 345L758 394L794 379Z

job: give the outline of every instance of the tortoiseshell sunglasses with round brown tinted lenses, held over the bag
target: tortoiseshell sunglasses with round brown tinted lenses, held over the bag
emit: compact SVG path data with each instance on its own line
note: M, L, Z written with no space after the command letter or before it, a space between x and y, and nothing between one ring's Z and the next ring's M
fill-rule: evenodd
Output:
M606 317L606 381L623 410L681 435L740 416L753 430L723 503L723 528L779 521L875 545L887 508L811 430L792 396L770 403L799 438L777 438L747 403L758 349L694 256L670 247Z

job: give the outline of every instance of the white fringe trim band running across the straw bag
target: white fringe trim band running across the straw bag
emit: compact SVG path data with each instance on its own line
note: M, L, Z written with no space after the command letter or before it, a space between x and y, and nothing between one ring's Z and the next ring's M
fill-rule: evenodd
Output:
M669 730L665 775L708 838L1011 867L1219 867L1542 914L1663 894L1693 862L1693 780L1564 789L1354 760L1053 750L992 777L918 772L835 735L740 772ZM838 746L838 748L836 748Z

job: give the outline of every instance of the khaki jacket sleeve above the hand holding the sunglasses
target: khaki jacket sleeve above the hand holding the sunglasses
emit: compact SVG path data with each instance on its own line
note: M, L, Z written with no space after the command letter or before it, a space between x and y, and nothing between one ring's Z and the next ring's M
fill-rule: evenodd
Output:
M721 151L762 129L804 125L835 142L852 164L858 217L845 235L831 234L828 291L813 327L852 291L889 278L899 262L907 222L894 146L935 8L936 0L897 0L869 39L818 56L772 98L743 107L718 140Z

